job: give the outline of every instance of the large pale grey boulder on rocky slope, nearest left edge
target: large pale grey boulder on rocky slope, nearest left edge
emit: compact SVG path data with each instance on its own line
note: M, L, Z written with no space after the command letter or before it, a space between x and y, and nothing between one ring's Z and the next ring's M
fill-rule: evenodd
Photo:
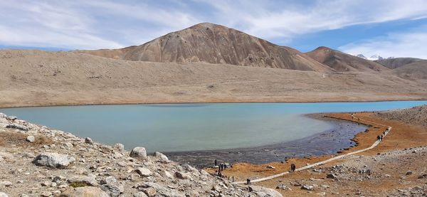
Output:
M44 152L36 156L33 163L36 166L48 166L52 168L60 168L70 165L75 159L68 154L58 154L53 152Z

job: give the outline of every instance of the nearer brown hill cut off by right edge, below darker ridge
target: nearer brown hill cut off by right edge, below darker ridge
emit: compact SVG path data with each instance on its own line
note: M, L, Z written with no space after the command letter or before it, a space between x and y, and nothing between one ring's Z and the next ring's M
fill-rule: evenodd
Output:
M408 80L427 79L427 60L420 60L414 63L403 65L391 70L391 73Z

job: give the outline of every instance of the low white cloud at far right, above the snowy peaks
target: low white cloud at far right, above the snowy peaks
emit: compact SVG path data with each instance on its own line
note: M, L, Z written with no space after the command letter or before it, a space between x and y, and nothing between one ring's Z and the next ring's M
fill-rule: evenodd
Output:
M349 43L338 49L345 53L367 55L379 54L382 57L427 59L427 27L408 33L388 33L386 36L372 38L359 43Z

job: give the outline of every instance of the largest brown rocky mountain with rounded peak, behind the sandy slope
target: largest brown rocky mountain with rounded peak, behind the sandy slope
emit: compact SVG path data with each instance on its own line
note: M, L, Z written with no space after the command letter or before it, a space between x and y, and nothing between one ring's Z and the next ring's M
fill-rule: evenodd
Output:
M226 63L292 70L332 71L298 50L277 46L226 26L199 23L141 46L78 52L123 60L172 63Z

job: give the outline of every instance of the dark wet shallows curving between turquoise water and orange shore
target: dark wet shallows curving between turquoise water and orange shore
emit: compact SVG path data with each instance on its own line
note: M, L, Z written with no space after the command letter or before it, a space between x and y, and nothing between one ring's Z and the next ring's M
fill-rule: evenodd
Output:
M214 166L218 163L238 164L267 164L282 162L290 158L305 158L336 154L337 151L357 146L354 138L368 127L362 124L343 119L324 117L325 114L304 115L313 119L320 119L333 124L332 129L312 134L309 137L295 139L290 142L266 144L259 147L237 149L217 149L206 151L177 151L164 152L169 158L183 164L190 164L199 168Z

